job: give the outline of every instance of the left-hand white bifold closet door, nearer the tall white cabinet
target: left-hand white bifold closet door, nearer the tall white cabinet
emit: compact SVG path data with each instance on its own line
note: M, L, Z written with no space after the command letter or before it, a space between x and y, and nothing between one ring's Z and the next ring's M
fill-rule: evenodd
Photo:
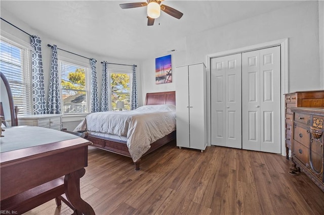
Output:
M211 144L241 148L241 54L211 60Z

